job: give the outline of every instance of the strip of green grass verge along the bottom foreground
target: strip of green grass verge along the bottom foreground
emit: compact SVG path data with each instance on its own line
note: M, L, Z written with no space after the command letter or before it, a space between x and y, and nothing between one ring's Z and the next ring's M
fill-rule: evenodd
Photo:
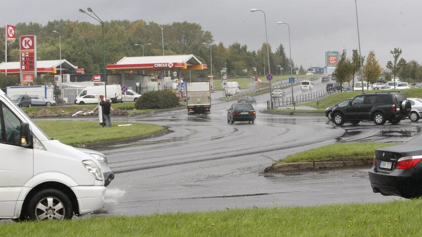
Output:
M370 189L368 183L368 189ZM1 236L420 236L422 200L0 224Z

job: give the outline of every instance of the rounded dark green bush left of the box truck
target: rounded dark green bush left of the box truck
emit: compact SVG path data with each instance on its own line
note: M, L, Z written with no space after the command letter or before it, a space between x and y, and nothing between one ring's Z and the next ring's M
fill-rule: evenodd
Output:
M179 98L169 90L144 93L136 100L136 109L173 108L179 105Z

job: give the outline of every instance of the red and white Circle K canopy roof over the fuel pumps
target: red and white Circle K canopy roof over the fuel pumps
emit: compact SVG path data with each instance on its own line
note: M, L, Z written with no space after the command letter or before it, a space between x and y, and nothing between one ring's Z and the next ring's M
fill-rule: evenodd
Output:
M193 54L124 57L115 64L107 65L107 69L115 71L203 70L206 68L206 64L202 64Z

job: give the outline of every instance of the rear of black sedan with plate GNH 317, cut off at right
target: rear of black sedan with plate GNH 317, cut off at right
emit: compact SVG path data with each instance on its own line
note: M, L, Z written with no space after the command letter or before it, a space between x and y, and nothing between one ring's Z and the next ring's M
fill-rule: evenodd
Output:
M399 145L375 150L369 171L372 190L403 198L422 196L422 148Z

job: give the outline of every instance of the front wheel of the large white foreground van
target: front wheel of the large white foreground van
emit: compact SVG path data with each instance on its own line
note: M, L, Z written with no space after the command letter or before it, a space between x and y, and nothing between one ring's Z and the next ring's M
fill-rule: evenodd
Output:
M33 195L26 216L30 220L63 220L73 217L71 200L62 191L45 189Z

